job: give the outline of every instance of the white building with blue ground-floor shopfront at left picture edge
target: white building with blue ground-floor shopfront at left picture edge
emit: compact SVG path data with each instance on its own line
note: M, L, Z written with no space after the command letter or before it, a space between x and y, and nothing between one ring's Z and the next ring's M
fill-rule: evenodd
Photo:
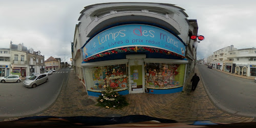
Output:
M11 49L0 49L0 77L10 74L11 66Z

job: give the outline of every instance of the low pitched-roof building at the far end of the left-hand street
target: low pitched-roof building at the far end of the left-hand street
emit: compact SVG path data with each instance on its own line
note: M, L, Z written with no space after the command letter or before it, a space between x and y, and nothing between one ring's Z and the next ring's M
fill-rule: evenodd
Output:
M60 68L59 60L52 56L49 57L47 60L45 60L45 65L46 65L46 71L59 70L59 68Z

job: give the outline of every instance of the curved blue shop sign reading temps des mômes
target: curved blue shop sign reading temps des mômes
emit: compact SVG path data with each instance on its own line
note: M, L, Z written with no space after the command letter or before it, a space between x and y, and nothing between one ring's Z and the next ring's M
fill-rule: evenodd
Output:
M148 25L122 25L94 36L82 47L83 59L125 47L151 47L185 56L185 45L172 33Z

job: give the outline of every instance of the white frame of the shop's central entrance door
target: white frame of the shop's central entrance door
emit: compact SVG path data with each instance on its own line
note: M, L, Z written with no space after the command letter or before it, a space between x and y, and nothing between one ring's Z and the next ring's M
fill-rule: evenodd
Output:
M132 91L132 85L131 85L131 66L142 66L142 90L140 91ZM129 76L129 94L133 93L144 93L145 92L145 68L144 68L144 59L129 59L128 60L128 76Z

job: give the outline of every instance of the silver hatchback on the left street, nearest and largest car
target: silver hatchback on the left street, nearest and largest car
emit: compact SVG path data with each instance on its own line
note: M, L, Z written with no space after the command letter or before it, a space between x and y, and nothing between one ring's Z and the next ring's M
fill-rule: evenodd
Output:
M35 74L28 79L25 79L23 85L28 88L35 88L39 84L48 82L47 74Z

